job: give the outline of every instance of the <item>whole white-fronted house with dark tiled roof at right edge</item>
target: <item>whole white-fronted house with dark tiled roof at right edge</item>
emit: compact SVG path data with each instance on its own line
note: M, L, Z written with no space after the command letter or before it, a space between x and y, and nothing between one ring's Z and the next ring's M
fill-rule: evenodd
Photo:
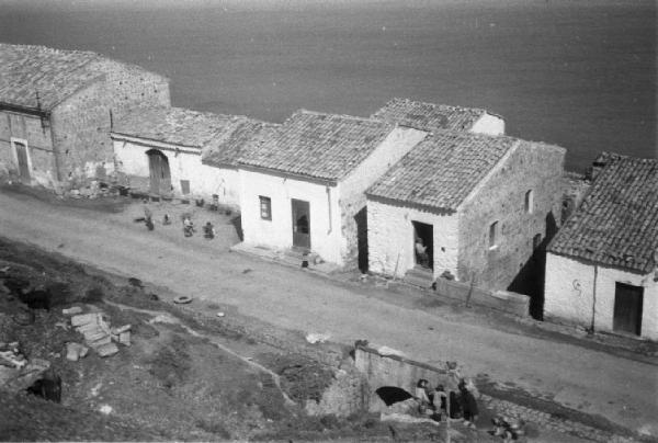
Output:
M658 340L658 160L604 154L546 252L545 318Z

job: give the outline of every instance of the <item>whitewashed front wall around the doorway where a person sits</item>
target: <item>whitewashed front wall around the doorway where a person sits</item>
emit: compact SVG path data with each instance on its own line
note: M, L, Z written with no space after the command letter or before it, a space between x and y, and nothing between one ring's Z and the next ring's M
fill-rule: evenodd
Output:
M458 216L367 201L368 268L385 275L404 276L416 264L413 225L432 225L434 276L444 271L457 275ZM442 249L443 248L443 249ZM398 259L399 255L399 259ZM396 270L397 263L397 272Z

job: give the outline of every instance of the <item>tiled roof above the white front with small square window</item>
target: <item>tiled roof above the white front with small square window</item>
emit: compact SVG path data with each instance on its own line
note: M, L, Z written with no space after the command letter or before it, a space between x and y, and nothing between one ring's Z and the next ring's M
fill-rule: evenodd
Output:
M297 111L239 162L252 167L340 180L395 128L368 118Z

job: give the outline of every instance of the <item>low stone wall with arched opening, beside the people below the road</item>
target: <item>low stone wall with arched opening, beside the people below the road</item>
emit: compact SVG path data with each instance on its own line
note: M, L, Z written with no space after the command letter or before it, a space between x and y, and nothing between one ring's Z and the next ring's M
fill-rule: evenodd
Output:
M370 410L382 406L375 391L383 386L396 386L413 394L418 380L424 378L431 387L442 384L449 390L456 390L461 378L456 368L440 368L400 355L382 354L368 347L355 348L354 364L367 379Z

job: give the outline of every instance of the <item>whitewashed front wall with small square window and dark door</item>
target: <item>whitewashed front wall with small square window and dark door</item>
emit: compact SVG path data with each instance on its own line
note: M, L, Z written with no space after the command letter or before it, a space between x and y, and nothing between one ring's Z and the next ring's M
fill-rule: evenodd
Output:
M292 200L309 203L310 249L324 260L342 265L341 229L336 186L280 175L239 170L243 241L276 249L293 247ZM260 198L272 200L272 219L260 216Z

